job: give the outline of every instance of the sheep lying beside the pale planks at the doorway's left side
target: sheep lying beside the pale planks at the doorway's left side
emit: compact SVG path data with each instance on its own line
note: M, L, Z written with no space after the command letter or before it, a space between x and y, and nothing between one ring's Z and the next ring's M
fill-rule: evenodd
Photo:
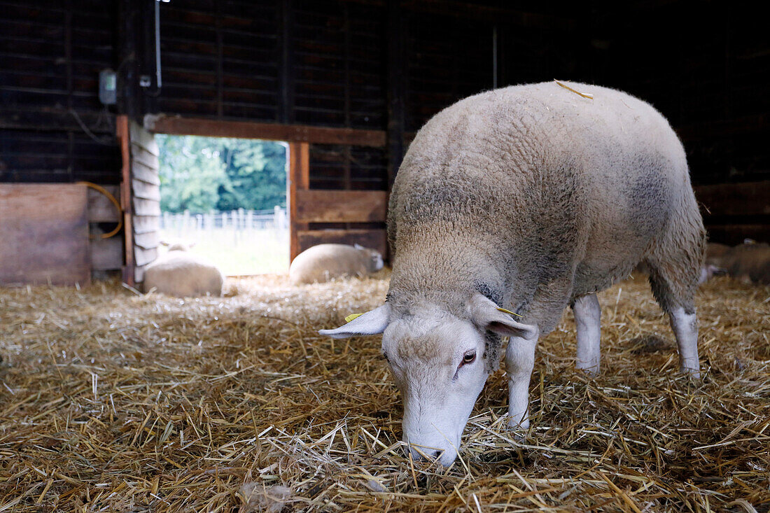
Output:
M186 244L170 244L168 253L147 266L144 290L176 297L221 296L225 283L222 271L188 251Z

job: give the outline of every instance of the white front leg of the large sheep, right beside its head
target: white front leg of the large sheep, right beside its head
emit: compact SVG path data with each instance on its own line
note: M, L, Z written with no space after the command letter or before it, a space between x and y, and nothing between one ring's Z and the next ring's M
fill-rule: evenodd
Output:
M531 338L511 337L505 350L508 374L508 424L529 428L529 382L534 368L534 348L539 333Z

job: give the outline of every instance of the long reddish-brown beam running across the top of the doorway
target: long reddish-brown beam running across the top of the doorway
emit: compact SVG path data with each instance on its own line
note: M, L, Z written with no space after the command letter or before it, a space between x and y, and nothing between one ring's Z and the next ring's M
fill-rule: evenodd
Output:
M236 137L239 139L313 142L315 144L350 144L376 148L385 146L385 132L383 130L222 121L162 114L145 116L144 126L150 132L167 133L175 136Z

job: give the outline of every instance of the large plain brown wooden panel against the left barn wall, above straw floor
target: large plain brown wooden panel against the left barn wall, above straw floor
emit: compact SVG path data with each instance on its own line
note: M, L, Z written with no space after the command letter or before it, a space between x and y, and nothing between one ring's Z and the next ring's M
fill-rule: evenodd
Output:
M0 184L0 284L89 283L87 197L76 184Z

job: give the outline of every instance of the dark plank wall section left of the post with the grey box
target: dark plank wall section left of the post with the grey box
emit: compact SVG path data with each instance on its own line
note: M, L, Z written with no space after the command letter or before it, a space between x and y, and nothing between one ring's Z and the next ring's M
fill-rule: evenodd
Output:
M114 117L98 98L114 29L114 2L0 0L0 182L119 183Z

